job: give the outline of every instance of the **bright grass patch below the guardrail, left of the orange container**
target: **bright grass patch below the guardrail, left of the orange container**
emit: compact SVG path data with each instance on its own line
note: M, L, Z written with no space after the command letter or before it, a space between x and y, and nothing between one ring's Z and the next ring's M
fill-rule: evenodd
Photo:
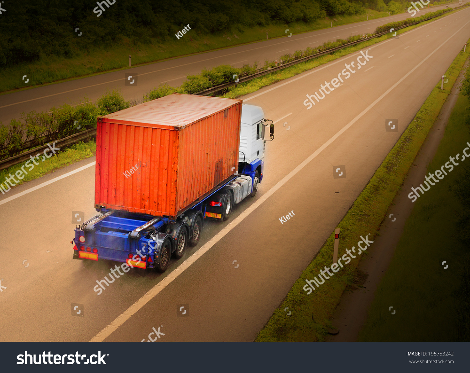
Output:
M17 185L23 184L26 181L31 181L34 179L38 179L41 176L44 176L50 172L56 171L60 168L68 166L72 163L81 161L82 159L86 159L92 157L96 153L96 141L88 141L88 142L78 142L76 144L71 145L67 149L61 149L55 155L47 158L42 162L41 160L36 160L38 165L34 165L34 168L31 171L28 171L29 168L26 166L24 170L27 171L27 175L23 175L23 179L19 179L19 177L15 176L15 179L20 181ZM42 154L42 153L41 153ZM42 157L39 157L42 159ZM8 174L15 175L16 171L21 170L21 167L28 161L24 161L22 163L18 163L14 166L9 167L8 169L0 171L0 183L5 185L5 177ZM29 164L34 164L30 161ZM22 174L19 174L22 176ZM12 181L14 184L14 181ZM11 187L11 186L10 186ZM13 188L13 187L12 187ZM1 195L1 194L0 194ZM8 192L5 195L1 195L3 198L8 197Z

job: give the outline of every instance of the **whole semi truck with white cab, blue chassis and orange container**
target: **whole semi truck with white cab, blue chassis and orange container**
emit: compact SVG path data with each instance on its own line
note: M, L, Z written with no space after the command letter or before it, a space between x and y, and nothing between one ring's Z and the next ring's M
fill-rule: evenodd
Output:
M256 194L272 140L260 107L227 98L173 93L98 117L98 215L76 225L73 258L164 272L206 218Z

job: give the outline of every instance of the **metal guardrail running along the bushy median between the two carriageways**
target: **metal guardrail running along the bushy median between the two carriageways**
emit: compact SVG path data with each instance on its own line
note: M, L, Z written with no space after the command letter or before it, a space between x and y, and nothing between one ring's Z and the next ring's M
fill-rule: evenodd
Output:
M455 9L455 8L454 8ZM425 18L421 21L418 21L418 22L413 22L413 23L407 23L403 26L399 26L397 28L394 28L393 30L400 30L400 29L404 29L406 27L409 27L409 26L412 26L414 24L417 24L417 23L422 23L424 21L428 21L432 18L436 18L436 17L439 17L439 16L442 16L443 14L445 13L441 13L441 14L438 14L436 16L432 16L432 17L429 17L429 18ZM364 39L360 39L360 40L356 40L356 41L352 41L351 43L347 43L347 44L343 44L341 46L338 46L338 47L334 47L334 48L331 48L331 49L327 49L325 51L322 51L322 52L319 52L319 53L315 53L315 54L312 54L310 56L305 56L305 57L302 57L302 58L299 58L298 60L294 60L294 61L291 61L291 62L287 62L287 63L284 63L284 64L281 64L279 66L276 66L276 67L273 67L269 70L262 70L262 71L258 71L254 74L251 74L251 75L248 75L246 77L243 77L243 78L239 78L239 81L237 83L235 82L230 82L230 83L225 83L225 84L221 84L221 85L217 85L215 87L212 87L212 88L208 88L208 89L205 89L204 91L201 91L201 92L197 92L197 93L194 93L196 95L200 95L200 96L207 96L211 93L215 93L215 92L219 92L223 89L227 89L229 87L232 87L234 85L239 85L241 83L245 83L245 82L248 82L254 78L258 78L258 77L262 77L263 75L266 75L266 74L270 74L274 71L278 71L278 70L282 70L282 69L285 69L287 67L290 67L290 66L294 66L298 63L301 63L301 62L305 62L305 61L308 61L308 60L311 60L313 58L317 58L317 57L320 57L322 55L325 55L325 54L329 54L329 53L332 53L332 52L336 52L338 50L341 50L341 49L344 49L344 48L347 48L347 47L351 47L353 45L356 45L356 44L359 44L359 43L362 43L364 41L367 41L367 40L370 40L370 39L374 39L374 38L378 38L380 36L383 36L383 35L386 35L390 33L390 31L384 31L384 32L380 32L376 35L372 35L372 36L369 36L367 38L364 38ZM60 139L60 140L56 140L55 143L57 145L57 147L60 147L60 146L66 146L66 145L70 145L70 144L73 144L74 142L78 142L80 140L84 140L88 137L92 137L92 136L96 136L96 128L92 128L91 130L87 130L87 131L83 131L83 132L79 132L79 133L76 133L74 135L71 135L71 136L68 136L68 137L65 137L63 139ZM24 160L28 159L30 157L30 155L33 155L35 154L36 152L39 152L43 149L47 148L47 144L44 145L44 146L41 146L39 148L35 148L35 149L32 149L32 150L28 150L27 152L24 152L24 153L21 153L21 154L18 154L18 155L14 155L10 158L7 158L3 161L0 161L0 170L4 170L10 166L14 166L15 164L17 163L21 163L23 162ZM37 153L36 153L37 154Z

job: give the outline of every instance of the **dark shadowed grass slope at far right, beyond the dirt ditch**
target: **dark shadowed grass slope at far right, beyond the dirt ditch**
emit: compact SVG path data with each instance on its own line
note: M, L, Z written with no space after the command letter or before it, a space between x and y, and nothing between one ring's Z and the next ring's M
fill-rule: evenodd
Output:
M459 95L428 172L439 169L449 156L462 155L470 141L465 124L469 104L467 97ZM462 264L470 252L459 239L456 211L462 209L462 202L453 189L456 180L465 177L465 165L470 169L469 162L454 166L415 202L392 262L377 287L360 341L456 341L466 329L458 325L456 306ZM447 270L441 265L444 260ZM388 312L391 305L396 310L393 316Z

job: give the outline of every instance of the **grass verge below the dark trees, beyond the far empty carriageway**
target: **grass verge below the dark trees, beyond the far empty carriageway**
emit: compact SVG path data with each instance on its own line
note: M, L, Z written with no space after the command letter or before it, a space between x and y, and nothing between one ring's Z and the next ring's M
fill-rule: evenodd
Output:
M386 12L367 10L369 19L389 16ZM52 84L54 82L67 81L75 78L83 78L128 68L128 55L132 56L132 65L141 65L163 61L165 59L202 53L220 48L235 47L241 44L266 40L266 31L270 39L285 37L285 30L293 34L319 30L330 27L330 21L335 26L342 24L365 21L367 15L361 16L336 16L335 18L323 18L313 23L271 24L257 26L245 31L226 31L217 35L198 35L195 31L188 32L182 39L169 41L165 44L157 42L151 45L140 46L115 46L112 48L90 48L88 53L79 54L69 59L55 56L42 57L37 62L23 63L15 67L5 68L0 71L0 92L8 92L13 89L26 89L21 77L27 75L31 88L37 85ZM130 43L129 43L130 44Z

